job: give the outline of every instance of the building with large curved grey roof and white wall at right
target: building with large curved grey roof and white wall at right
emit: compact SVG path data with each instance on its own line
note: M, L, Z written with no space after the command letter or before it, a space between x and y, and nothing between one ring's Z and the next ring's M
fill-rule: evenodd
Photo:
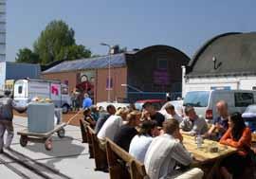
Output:
M256 32L218 35L183 66L182 95L210 89L256 90Z

